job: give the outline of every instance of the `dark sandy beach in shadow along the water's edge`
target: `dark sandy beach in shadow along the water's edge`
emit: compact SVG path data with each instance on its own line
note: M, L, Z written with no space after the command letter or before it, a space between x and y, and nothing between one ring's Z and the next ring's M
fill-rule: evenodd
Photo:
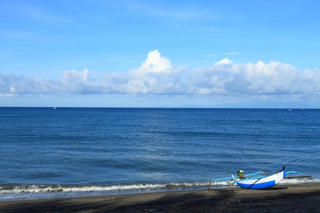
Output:
M320 212L320 183L4 201L0 212Z

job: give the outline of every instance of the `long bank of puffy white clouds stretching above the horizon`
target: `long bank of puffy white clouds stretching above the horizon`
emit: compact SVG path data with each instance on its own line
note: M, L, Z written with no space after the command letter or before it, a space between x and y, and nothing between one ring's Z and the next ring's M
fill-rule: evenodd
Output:
M318 96L320 70L299 70L271 61L235 64L224 58L212 66L188 70L175 67L157 50L141 66L126 73L106 72L99 78L66 70L61 81L0 73L0 96L24 94L172 94L183 96Z

